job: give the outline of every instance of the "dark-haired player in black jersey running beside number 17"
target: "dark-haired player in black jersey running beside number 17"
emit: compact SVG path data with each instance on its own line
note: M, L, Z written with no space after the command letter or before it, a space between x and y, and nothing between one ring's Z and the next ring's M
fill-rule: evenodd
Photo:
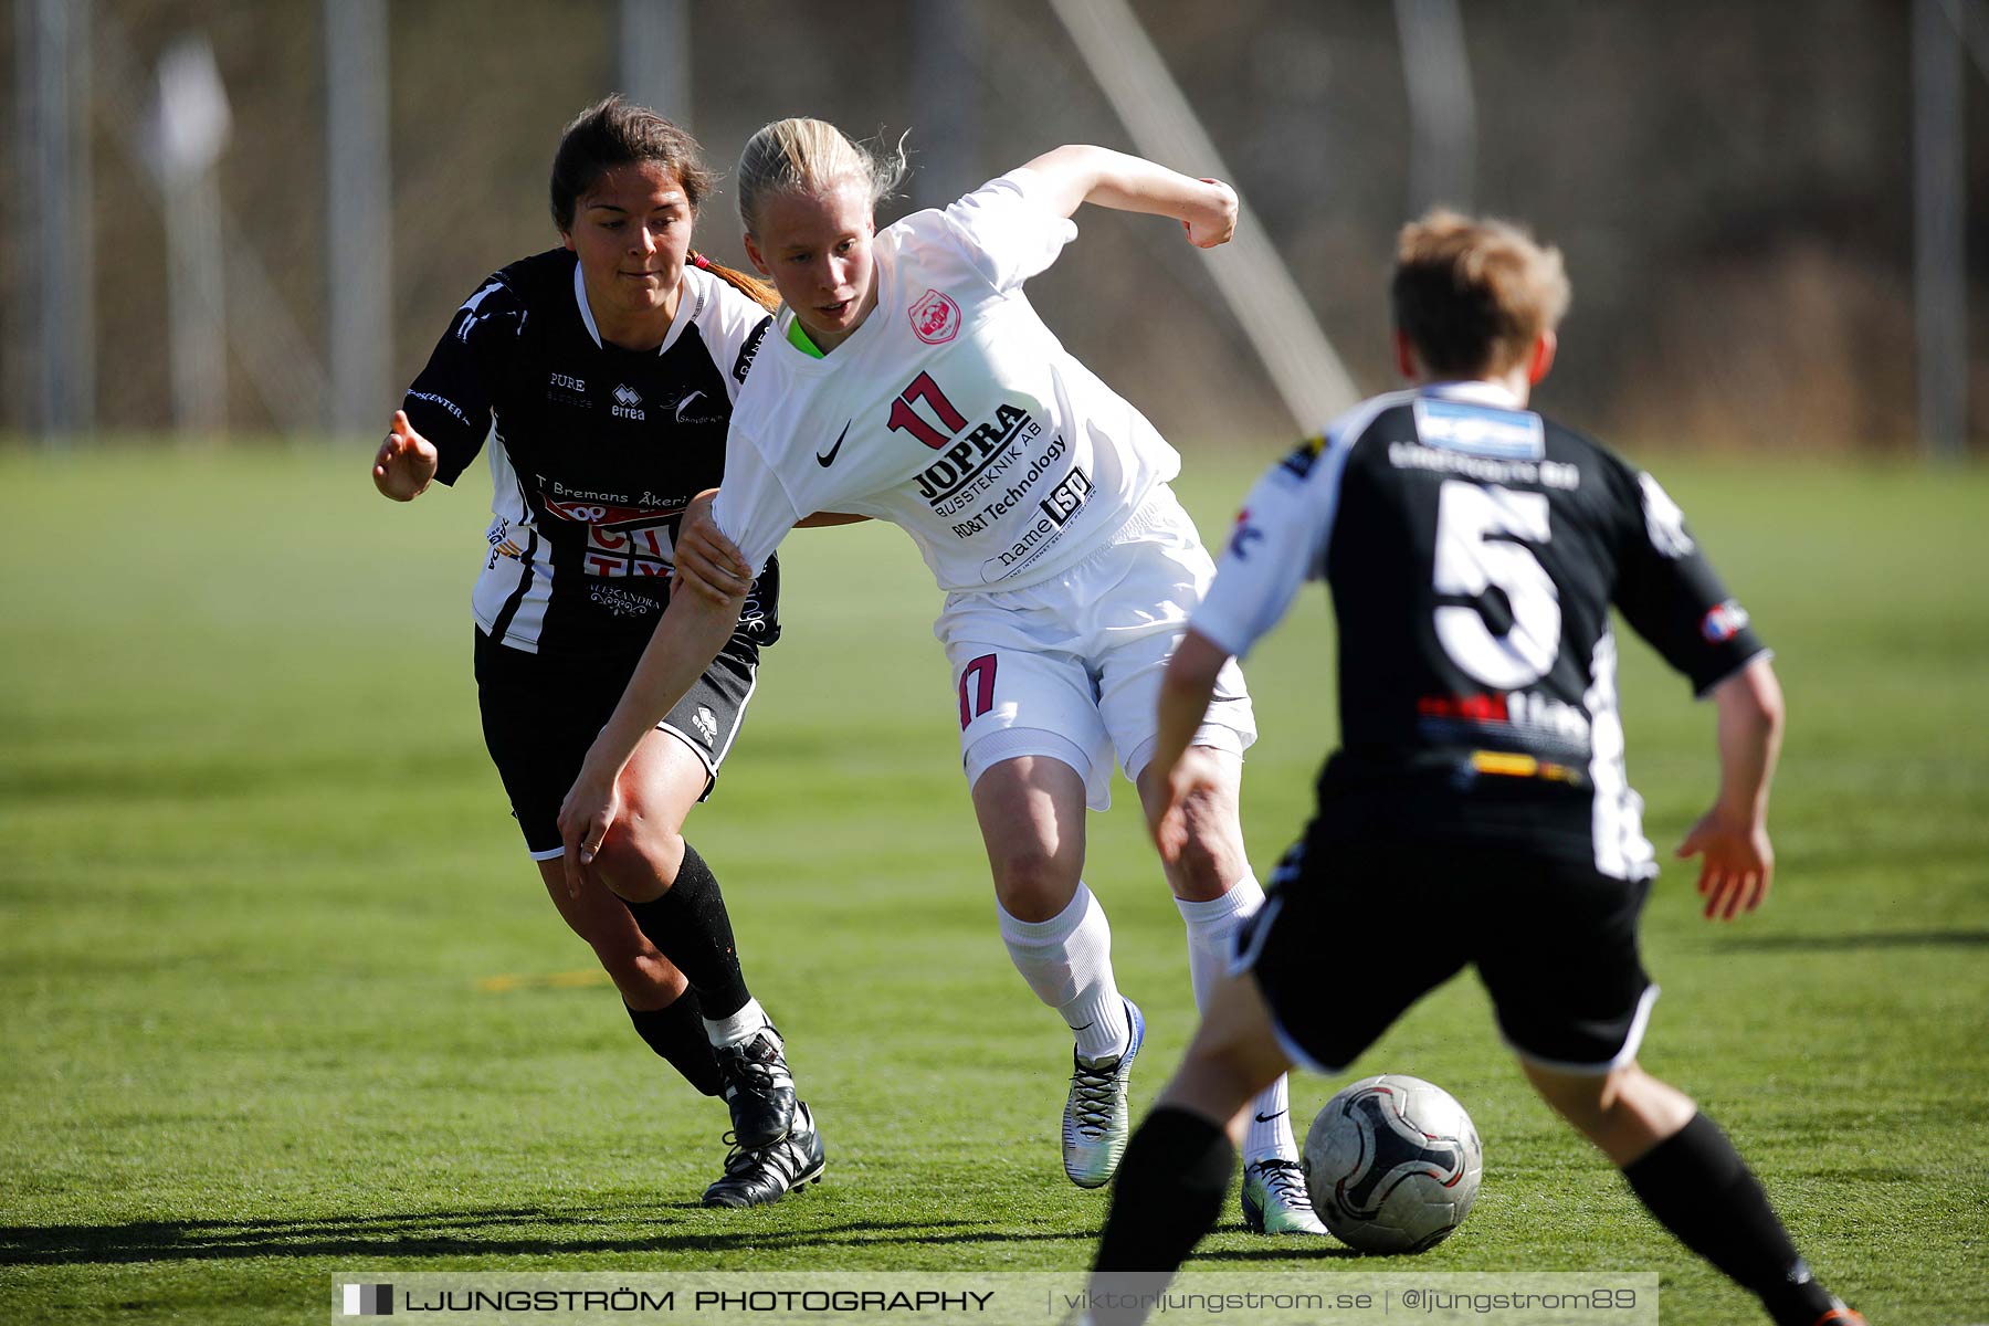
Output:
M483 738L559 914L613 976L648 1046L724 1095L738 1149L708 1205L778 1201L821 1175L778 1032L746 988L718 881L682 837L738 734L778 569L734 602L680 704L631 740L638 807L591 879L561 863L559 797L670 600L684 505L718 483L732 398L772 292L690 249L712 187L696 141L609 97L553 159L561 249L489 276L455 312L374 457L412 501L491 447L493 521L473 592ZM756 302L758 300L758 302ZM607 887L603 887L607 885ZM688 982L688 988L686 988Z

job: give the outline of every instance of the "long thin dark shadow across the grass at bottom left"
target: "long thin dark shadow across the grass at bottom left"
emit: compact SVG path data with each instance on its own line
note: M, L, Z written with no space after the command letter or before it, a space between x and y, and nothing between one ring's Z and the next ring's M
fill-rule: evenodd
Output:
M674 1217L654 1219L615 1209L505 1207L406 1215L326 1217L314 1221L131 1221L127 1225L0 1227L0 1266L76 1266L251 1256L519 1256L599 1252L728 1252L734 1248L865 1248L923 1244L1056 1243L1090 1235L1002 1233L973 1221L847 1221L768 1229L764 1221L728 1231L668 1233ZM704 1213L702 1207L682 1211ZM684 1217L690 1219L690 1217ZM517 1237L495 1233L517 1229ZM551 1231L551 1233L549 1233ZM611 1233L613 1231L613 1233ZM634 1233L631 1233L634 1231ZM943 1233L953 1231L953 1233Z

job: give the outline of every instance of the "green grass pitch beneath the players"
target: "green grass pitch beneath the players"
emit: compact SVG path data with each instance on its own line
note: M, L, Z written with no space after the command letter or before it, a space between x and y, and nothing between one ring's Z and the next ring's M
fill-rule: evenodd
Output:
M790 541L788 638L690 823L831 1153L798 1199L702 1211L724 1111L587 976L483 755L481 467L396 507L366 445L0 453L0 1320L322 1320L352 1266L1082 1266L1106 1197L1058 1169L1068 1040L994 932L903 535ZM1267 459L1191 457L1211 541ZM1985 1322L1989 479L1657 469L1778 648L1790 736L1766 911L1703 922L1683 867L1653 895L1645 1064L1874 1322ZM1319 590L1251 684L1269 871L1333 740ZM1713 714L1637 644L1623 688L1669 853ZM1152 1020L1144 1109L1193 1012L1124 783L1088 879ZM1402 899L1404 942L1442 922ZM1657 1270L1667 1326L1758 1320L1526 1091L1472 978L1356 1070L1446 1085L1486 1141L1416 1268ZM1297 1079L1295 1117L1337 1085ZM1404 1268L1253 1239L1233 1201L1193 1264Z

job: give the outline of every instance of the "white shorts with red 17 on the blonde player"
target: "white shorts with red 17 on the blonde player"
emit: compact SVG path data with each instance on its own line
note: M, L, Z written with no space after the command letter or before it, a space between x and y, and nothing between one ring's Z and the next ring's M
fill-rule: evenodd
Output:
M1016 755L1048 755L1112 805L1114 755L1138 779L1154 753L1160 678L1215 563L1174 489L1160 485L1110 543L1058 577L947 596L933 634L961 702L967 785ZM1195 746L1241 755L1257 740L1243 672L1229 660Z

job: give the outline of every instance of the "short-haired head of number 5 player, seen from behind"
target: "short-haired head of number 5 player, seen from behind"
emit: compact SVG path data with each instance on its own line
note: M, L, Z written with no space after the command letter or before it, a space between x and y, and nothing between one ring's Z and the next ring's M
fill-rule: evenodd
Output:
M1394 326L1432 378L1545 376L1539 346L1567 314L1561 250L1526 227L1432 209L1402 227L1388 298ZM1537 372L1536 372L1537 370Z

